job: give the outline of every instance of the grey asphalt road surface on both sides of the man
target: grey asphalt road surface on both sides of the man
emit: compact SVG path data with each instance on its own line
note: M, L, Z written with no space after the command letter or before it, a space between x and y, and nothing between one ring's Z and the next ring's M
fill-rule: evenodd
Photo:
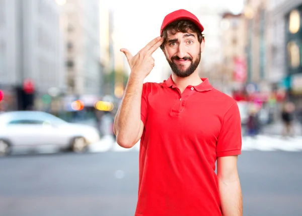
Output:
M244 215L301 215L301 167L301 151L243 151ZM0 215L133 216L137 184L137 151L13 155L0 158Z

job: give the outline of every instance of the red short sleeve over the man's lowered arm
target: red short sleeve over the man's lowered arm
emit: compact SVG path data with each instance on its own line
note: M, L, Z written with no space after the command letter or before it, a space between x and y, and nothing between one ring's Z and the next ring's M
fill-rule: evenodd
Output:
M241 118L235 102L223 117L216 146L217 157L241 154L241 147Z

